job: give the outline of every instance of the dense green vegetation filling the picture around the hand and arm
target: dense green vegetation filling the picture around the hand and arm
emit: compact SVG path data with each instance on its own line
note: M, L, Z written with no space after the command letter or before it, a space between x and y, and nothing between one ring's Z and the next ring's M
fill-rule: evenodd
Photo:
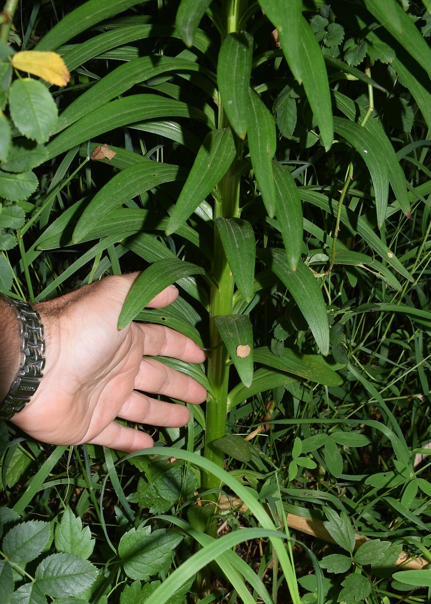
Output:
M159 455L0 423L1 602L428 602L431 3L5 9L0 291L150 267L120 327L209 396Z

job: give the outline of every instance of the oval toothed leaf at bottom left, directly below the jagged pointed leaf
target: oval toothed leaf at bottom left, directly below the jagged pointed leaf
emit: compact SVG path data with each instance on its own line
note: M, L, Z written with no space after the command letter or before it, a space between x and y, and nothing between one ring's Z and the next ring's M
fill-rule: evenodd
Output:
M51 554L36 568L36 585L51 597L77 596L94 583L97 568L74 554Z

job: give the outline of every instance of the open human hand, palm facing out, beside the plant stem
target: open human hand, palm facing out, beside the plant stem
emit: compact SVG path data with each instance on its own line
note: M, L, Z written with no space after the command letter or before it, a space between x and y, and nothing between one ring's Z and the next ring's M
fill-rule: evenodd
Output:
M182 333L162 325L130 323L117 329L124 300L138 273L106 277L40 303L46 351L39 388L11 421L37 440L53 445L92 443L132 452L153 445L145 432L115 422L184 426L187 407L150 394L202 403L206 390L191 377L145 356L199 363L206 356ZM170 286L148 306L176 300Z

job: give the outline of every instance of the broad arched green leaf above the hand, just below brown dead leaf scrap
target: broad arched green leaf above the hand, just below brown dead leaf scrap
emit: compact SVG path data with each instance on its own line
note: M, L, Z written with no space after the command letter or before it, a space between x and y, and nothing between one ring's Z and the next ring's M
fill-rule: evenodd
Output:
M174 181L181 175L184 177L184 172L176 165L162 164L151 159L126 168L95 194L75 226L73 241L82 240L110 210L162 182Z

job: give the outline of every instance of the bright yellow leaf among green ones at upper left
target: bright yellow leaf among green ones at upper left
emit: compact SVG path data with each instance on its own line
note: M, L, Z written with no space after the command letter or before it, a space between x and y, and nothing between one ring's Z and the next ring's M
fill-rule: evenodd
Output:
M42 77L45 82L56 86L65 86L71 79L65 62L57 53L23 50L13 55L11 63L14 68Z

